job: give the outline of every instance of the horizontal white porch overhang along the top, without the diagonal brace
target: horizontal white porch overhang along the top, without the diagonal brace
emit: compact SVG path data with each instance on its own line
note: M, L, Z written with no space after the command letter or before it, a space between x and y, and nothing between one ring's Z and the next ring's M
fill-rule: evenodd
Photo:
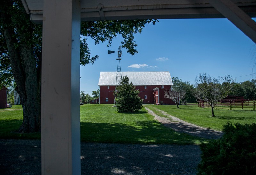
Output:
M43 0L22 0L31 20L43 19ZM256 1L232 0L250 17L256 17ZM224 18L209 0L81 0L82 21Z

